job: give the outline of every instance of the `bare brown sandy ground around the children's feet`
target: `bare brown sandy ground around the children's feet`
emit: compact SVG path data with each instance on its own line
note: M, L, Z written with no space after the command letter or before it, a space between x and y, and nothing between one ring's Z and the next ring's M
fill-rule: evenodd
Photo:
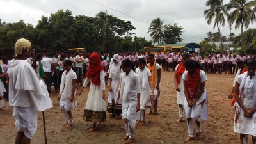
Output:
M134 143L184 143L188 136L186 122L176 123L179 118L176 92L173 83L174 72L163 72L161 76L161 104L159 115L147 115L143 126L136 126ZM209 120L202 122L202 137L189 143L239 143L239 134L233 132L234 107L229 106L230 93L235 75L207 74L207 94L209 97ZM53 88L52 88L53 89ZM78 97L77 108L72 111L74 125L63 127L65 118L60 111L58 93L53 92L51 99L54 107L45 111L45 122L48 143L124 143L123 120L108 118L97 130L88 132L91 122L83 120L89 88L85 88ZM4 102L0 110L0 143L15 143L16 129L12 109ZM194 122L195 132L195 122ZM251 137L249 137L251 142ZM38 127L31 143L45 143L42 113L38 113Z

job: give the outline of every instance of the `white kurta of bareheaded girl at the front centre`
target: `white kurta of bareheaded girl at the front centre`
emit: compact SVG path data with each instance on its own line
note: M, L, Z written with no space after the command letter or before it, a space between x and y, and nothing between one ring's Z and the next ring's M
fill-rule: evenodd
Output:
M138 74L132 70L129 73L133 73L129 79L124 72L120 77L120 99L122 99L122 118L127 118L128 120L138 120L140 119L140 111L136 112L137 105L137 94L140 91L140 79ZM128 78L128 79L127 79ZM128 83L130 81L130 84ZM125 85L129 84L129 85ZM125 90L127 88L127 90ZM124 91L127 91L127 95L122 95Z

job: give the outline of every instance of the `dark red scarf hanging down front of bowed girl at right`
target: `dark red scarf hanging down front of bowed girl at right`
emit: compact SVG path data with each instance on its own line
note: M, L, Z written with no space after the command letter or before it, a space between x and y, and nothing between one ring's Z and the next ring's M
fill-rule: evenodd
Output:
M187 93L188 93L188 98L189 100L193 100L195 99L197 90L198 90L198 86L200 83L200 69L196 68L195 71L193 72L193 74L189 74L187 75Z

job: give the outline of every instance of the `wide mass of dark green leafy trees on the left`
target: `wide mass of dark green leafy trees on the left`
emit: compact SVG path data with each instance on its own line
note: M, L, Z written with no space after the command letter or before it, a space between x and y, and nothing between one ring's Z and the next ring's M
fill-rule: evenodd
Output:
M42 16L35 28L23 20L6 24L0 19L0 51L13 49L19 38L30 40L36 51L86 47L88 52L131 52L152 46L152 42L145 38L135 36L132 40L130 35L134 29L130 21L118 19L107 12L100 12L96 17L73 17L70 10L60 9L49 17ZM124 35L127 36L122 38Z

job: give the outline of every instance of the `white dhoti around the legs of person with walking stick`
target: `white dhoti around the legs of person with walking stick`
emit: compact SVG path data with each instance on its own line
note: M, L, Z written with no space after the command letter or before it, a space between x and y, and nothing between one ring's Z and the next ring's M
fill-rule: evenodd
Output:
M26 138L31 139L37 127L37 111L35 107L13 106L15 126L20 132L24 132Z

